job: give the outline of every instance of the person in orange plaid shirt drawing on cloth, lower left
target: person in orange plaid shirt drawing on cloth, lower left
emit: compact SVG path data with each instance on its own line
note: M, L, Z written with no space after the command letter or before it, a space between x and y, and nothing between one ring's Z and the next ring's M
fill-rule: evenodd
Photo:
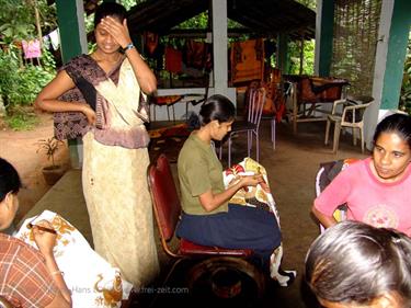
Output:
M21 180L0 158L0 230L7 229L19 208ZM52 228L47 221L39 226ZM71 296L59 271L53 248L56 235L33 227L39 250L0 232L0 296L15 307L71 307Z

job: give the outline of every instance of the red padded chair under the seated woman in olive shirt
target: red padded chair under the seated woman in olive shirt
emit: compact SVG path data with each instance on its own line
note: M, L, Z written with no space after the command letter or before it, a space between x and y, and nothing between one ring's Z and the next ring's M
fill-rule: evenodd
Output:
M233 266L237 271L243 272L251 277L258 285L259 292L264 290L265 281L263 274L247 261L248 258L253 255L253 251L250 249L206 247L185 239L180 239L176 247L173 247L171 240L174 238L175 227L182 209L170 164L164 155L160 155L148 167L147 178L162 248L169 256L176 260L165 281L169 280L181 261L197 259L203 260L203 262L194 265L194 271L190 271L192 277L189 277L189 281L191 282L198 276L198 271L204 269L217 272L219 269Z

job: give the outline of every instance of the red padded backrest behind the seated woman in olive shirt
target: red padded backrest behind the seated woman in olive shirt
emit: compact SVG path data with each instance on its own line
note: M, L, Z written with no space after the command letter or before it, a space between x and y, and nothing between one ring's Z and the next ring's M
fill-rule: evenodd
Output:
M150 163L147 178L161 241L168 251L167 242L174 235L181 214L181 204L169 160L163 153Z

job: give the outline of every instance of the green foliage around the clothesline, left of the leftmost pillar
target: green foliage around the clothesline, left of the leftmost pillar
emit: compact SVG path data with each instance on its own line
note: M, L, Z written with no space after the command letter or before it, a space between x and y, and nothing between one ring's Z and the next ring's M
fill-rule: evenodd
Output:
M0 0L0 93L9 110L18 105L30 105L43 87L55 76L55 60L45 48L42 52L42 66L23 66L22 50L18 47L22 39L37 37L34 15L37 5L44 30L56 26L54 5L46 0ZM12 125L25 116L16 116Z

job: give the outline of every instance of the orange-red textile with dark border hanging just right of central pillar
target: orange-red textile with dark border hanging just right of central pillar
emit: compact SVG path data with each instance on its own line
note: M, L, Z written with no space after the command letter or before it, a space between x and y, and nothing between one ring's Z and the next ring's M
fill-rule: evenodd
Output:
M264 76L264 41L262 38L231 44L231 82L262 80Z

